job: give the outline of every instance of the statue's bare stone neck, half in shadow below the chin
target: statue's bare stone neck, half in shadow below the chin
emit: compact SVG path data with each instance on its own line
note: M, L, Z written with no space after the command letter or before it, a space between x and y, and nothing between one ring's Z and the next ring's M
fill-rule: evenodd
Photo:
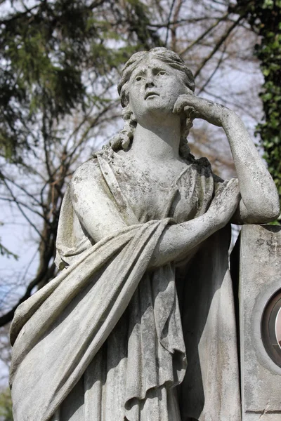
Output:
M181 138L179 124L157 127L136 126L130 154L136 159L148 161L169 161L178 159L178 149Z

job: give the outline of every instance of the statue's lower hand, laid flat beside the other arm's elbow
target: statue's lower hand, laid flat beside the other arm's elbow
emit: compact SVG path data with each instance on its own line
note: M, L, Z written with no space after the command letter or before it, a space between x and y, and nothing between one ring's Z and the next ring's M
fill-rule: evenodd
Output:
M226 225L240 202L240 188L237 178L226 180L218 187L214 199L207 211L218 225Z

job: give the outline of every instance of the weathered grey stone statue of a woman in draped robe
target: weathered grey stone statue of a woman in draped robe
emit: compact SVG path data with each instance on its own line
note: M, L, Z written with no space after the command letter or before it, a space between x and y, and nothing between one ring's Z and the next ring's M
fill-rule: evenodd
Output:
M126 63L124 129L65 194L62 272L13 321L15 421L240 420L228 222L279 204L240 118L194 88L166 48ZM238 179L190 154L194 118L223 127Z

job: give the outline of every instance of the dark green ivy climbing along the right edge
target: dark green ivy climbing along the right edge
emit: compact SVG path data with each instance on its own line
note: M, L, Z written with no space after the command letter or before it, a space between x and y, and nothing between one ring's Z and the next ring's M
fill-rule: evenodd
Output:
M264 122L257 127L264 158L281 199L281 0L238 1L247 10L251 27L261 36L256 57L264 76Z

